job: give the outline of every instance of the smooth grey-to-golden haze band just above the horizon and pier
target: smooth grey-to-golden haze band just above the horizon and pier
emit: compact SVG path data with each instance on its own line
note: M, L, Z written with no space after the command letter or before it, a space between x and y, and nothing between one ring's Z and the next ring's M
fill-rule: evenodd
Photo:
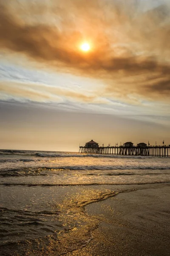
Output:
M55 108L31 105L0 103L1 114L0 148L78 151L93 139L104 143L132 141L150 145L170 142L169 127L144 122L139 119L122 118L110 114L61 112ZM1 108L1 109L2 109Z

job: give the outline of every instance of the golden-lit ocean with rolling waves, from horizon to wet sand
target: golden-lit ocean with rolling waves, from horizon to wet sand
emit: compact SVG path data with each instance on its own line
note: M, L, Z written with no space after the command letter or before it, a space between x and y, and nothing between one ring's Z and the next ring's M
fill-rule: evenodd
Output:
M169 183L170 157L0 150L1 255L90 255L105 214L89 205Z

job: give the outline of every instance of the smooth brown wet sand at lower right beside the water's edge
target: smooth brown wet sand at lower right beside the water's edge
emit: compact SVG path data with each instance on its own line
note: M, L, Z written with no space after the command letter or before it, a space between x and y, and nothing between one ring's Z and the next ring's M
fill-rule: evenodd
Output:
M170 255L169 184L137 186L136 191L120 192L85 208L101 223L87 246L66 255Z

